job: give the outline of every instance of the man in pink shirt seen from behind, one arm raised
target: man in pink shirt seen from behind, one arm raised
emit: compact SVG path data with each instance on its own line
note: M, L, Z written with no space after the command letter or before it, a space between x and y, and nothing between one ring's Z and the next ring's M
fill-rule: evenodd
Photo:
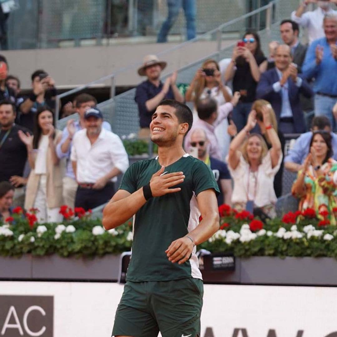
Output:
M194 129L201 128L205 130L207 139L209 140L210 155L218 160L222 160L221 149L218 139L215 135L215 127L218 126L233 111L234 106L238 104L240 93L235 92L230 102L217 106L217 102L213 98L201 99L196 106L198 118L193 121L192 131L185 136L184 149L190 152L190 137ZM223 132L226 132L224 130Z

